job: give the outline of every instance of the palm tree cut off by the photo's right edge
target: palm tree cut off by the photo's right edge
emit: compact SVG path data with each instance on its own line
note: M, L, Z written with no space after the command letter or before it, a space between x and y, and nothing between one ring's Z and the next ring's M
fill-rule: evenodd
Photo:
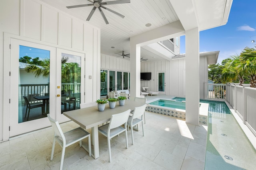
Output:
M246 47L240 54L240 61L242 68L250 75L251 87L256 88L256 49Z

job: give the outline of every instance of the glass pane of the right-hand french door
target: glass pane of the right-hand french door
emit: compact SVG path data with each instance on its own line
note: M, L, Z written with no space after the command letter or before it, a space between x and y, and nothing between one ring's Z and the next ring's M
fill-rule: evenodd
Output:
M81 57L61 54L61 113L80 108Z

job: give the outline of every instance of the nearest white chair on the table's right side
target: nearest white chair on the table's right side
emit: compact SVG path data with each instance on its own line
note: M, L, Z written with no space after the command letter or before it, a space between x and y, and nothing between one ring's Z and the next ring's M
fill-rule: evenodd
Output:
M114 114L111 116L110 123L98 128L98 131L102 133L108 139L108 156L109 162L111 162L111 148L110 139L125 132L126 135L126 149L128 149L128 136L127 136L127 120L130 114L130 109L122 113ZM124 124L124 127L121 125Z

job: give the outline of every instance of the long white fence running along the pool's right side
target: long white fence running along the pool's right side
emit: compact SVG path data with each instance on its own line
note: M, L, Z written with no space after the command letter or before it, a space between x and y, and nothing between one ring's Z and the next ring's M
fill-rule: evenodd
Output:
M226 94L226 100L256 136L256 88L250 88L250 84L227 84Z

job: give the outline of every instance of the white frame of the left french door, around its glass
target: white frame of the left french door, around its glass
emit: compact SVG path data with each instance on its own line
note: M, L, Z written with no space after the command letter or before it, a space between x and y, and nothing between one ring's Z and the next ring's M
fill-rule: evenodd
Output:
M50 63L52 67L50 67L51 74L55 75L55 57L56 57L56 48L50 47L47 45L41 45L38 43L32 43L28 41L18 40L18 39L10 39L11 49L10 49L10 133L9 137L20 135L22 133L34 131L37 129L41 129L47 126L50 126L50 122L47 117L35 119L31 121L26 121L22 123L18 123L18 84L19 84L19 47L20 45L33 47L38 49L44 49L50 51ZM50 76L50 86L56 86L56 81L54 76ZM55 117L55 98L52 96L55 94L55 89L50 88L50 115L51 117Z

